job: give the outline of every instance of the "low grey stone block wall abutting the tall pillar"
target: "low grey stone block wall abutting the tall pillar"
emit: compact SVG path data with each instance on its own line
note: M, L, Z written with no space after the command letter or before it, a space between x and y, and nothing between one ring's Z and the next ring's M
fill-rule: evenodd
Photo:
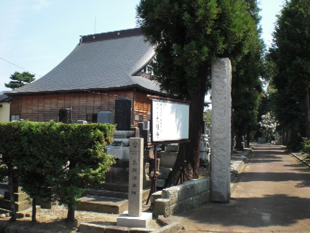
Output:
M151 196L154 217L182 213L210 201L210 180L203 178L165 188Z

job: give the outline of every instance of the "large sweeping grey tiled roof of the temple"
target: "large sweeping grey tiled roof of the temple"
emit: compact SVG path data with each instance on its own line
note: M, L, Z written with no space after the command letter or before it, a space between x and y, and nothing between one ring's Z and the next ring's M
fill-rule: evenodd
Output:
M81 36L77 47L33 83L6 94L139 87L161 93L158 83L135 76L155 56L139 29Z

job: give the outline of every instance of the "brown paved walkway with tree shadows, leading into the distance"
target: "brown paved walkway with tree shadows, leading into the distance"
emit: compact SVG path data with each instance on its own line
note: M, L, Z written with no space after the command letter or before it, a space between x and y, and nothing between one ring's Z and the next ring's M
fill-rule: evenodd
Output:
M228 204L168 217L188 233L310 233L310 170L274 145L255 145Z

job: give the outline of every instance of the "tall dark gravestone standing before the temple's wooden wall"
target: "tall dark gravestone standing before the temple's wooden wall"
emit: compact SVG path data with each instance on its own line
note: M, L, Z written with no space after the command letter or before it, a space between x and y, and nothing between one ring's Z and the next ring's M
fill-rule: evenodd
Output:
M116 130L130 130L131 101L127 98L115 100L115 120Z

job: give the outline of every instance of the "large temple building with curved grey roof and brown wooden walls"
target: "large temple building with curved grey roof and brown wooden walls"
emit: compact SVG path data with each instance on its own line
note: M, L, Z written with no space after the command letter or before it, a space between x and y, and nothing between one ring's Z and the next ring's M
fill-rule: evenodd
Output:
M147 94L165 96L149 78L154 56L154 47L138 28L81 36L77 47L45 76L6 92L12 97L11 119L58 121L60 109L69 109L73 122L93 122L99 111L111 112L114 122L115 100L127 98L131 124L137 126L137 119L150 113Z

